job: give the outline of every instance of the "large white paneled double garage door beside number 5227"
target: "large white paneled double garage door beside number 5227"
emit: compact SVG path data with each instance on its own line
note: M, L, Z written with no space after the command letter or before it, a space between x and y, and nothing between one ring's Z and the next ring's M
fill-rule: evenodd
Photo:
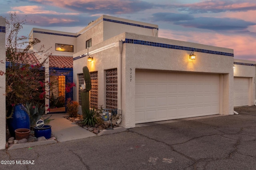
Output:
M219 74L136 70L135 123L219 114Z

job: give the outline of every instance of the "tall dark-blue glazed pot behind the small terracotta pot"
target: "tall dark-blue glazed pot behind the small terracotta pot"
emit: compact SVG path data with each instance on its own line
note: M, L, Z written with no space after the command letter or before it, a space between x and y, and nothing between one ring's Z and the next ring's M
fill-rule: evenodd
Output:
M12 109L9 109L9 115L11 115L11 112L12 112ZM16 129L20 129L20 128L30 129L30 118L23 104L15 105L13 107L12 117L8 118L6 121L7 121L10 135L12 137L15 137Z

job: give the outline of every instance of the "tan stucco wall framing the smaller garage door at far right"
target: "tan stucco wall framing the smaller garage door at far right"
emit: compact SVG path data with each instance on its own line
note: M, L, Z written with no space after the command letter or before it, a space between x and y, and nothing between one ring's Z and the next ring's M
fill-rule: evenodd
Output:
M248 61L248 60L240 60L234 59L236 63L246 63L246 64L256 64L255 61ZM256 67L255 66L248 66L248 65L241 65L241 64L234 64L234 77L248 77L250 78L249 82L249 106L254 105L254 101L256 99L256 85L255 85L255 74L256 74Z

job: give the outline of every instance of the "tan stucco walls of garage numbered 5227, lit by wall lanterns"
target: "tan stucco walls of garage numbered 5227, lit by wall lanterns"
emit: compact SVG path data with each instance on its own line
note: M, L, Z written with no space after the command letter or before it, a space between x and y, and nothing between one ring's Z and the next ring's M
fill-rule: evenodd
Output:
M135 70L136 69L153 69L153 70L170 70L170 71L186 71L186 72L209 72L220 74L221 82L223 82L223 92L220 99L220 114L233 114L233 57L212 55L207 53L195 52L196 60L190 60L191 51L183 51L178 49L166 49L161 47L152 47L146 45L119 43L118 40L139 39L144 41L152 41L158 43L166 43L172 45L180 45L185 47L193 47L198 49L206 49L212 51L221 51L226 53L234 53L232 49L221 47L213 47L208 45L177 41L172 39L164 39L159 37L151 37L138 35L134 33L122 33L116 37L108 39L103 43L97 44L89 48L94 57L93 62L88 62L90 71L98 70L98 105L105 105L105 75L104 70L117 68L119 78L122 78L122 98L118 99L122 105L122 122L121 126L126 128L135 127ZM115 46L103 51L97 52L96 49L115 43ZM121 48L120 48L121 47ZM95 53L93 53L95 51ZM81 51L74 55L77 57L86 53ZM122 54L122 58L120 57ZM75 60L74 63L74 81L76 74L82 73L82 66L87 64L87 57ZM120 66L120 62L122 65ZM132 80L130 81L130 71L132 70ZM120 72L122 74L120 75ZM121 83L121 82L119 82ZM120 86L120 85L118 85ZM78 98L78 90L76 97ZM78 100L78 99L77 99ZM223 106L222 106L223 105Z

